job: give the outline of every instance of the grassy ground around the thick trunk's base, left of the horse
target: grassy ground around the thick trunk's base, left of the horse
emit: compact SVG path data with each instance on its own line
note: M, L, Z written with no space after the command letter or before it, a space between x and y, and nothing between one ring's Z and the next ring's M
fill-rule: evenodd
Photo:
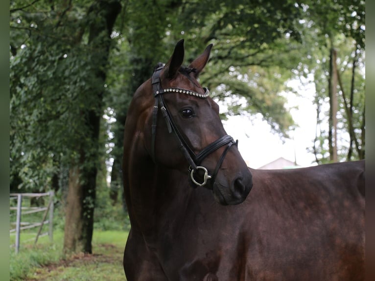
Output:
M45 236L36 246L33 242L23 244L21 237L19 254L10 254L10 281L123 281L122 256L127 234L95 230L93 254L71 257L63 256L62 231L54 232L53 243Z

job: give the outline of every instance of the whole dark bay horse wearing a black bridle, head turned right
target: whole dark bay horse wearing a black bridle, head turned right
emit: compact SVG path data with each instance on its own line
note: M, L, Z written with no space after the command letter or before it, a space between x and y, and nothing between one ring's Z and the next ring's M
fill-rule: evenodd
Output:
M127 280L364 280L364 161L248 168L197 81L211 47L182 67L177 43L130 105Z

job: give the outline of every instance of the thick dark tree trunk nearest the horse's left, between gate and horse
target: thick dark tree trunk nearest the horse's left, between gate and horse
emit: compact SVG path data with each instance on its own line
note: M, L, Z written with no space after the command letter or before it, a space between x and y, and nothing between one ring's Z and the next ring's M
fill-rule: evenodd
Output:
M95 1L88 11L88 18L95 15L90 22L89 48L97 53L97 60L93 61L95 77L104 85L106 79L106 65L110 49L110 35L120 12L119 2ZM92 253L92 237L94 230L94 203L99 149L99 126L103 91L92 89L97 95L100 108L84 110L81 118L86 119L88 142L80 144L78 163L70 169L69 190L67 196L64 253L84 252Z

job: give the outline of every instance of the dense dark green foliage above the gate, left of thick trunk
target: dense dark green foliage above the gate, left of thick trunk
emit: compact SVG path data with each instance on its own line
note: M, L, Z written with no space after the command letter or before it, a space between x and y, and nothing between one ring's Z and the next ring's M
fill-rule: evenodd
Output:
M101 110L96 67L104 54L85 40L84 6L20 6L11 3L11 174L18 188L43 190L61 163L79 157L80 143L96 150L82 112Z

